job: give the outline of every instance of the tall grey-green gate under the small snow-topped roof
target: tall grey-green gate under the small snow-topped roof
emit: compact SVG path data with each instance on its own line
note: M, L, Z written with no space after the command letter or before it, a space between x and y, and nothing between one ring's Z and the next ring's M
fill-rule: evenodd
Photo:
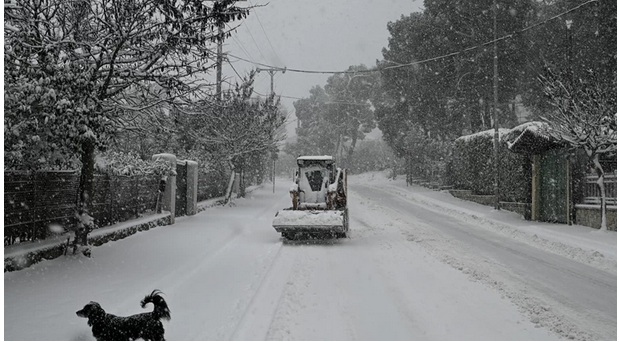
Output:
M540 221L568 223L569 163L560 150L542 156Z

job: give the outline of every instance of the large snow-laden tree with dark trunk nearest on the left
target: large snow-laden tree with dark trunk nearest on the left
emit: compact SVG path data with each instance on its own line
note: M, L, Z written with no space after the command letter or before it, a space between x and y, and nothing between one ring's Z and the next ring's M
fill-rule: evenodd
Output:
M249 12L235 2L24 0L7 9L9 162L79 159L79 208L87 212L95 151L118 129L120 112L208 95L202 80L216 63L214 42Z

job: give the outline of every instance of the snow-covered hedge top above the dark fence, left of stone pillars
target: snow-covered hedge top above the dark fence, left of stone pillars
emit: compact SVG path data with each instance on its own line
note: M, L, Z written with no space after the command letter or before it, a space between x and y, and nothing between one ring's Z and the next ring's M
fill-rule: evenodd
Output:
M95 168L98 173L117 176L175 175L176 170L163 159L143 160L133 153L106 152L97 156Z

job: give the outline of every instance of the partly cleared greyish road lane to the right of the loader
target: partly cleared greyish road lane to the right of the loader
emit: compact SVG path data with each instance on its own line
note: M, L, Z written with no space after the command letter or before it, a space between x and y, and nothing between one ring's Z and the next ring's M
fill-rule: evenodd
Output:
M491 223L467 222L441 206L411 203L391 187L357 185L354 190L357 197L380 202L381 211L391 211L407 240L498 290L533 322L568 338L616 336L616 272L514 242Z

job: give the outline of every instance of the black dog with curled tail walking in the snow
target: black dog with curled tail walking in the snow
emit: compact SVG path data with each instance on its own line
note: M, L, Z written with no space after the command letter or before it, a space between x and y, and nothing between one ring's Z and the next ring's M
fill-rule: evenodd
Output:
M88 325L92 327L92 334L98 341L130 341L138 338L163 341L165 338L161 319L170 320L168 304L161 297L159 290L154 290L144 297L141 302L142 307L147 303L153 303L155 306L152 312L128 317L108 314L97 302L86 304L76 314L79 317L88 318Z

